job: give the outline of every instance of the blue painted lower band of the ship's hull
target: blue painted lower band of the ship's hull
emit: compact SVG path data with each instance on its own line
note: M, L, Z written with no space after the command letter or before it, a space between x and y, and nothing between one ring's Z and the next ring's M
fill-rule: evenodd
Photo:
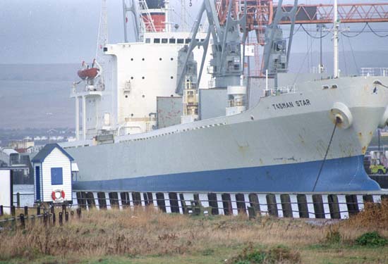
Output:
M254 168L73 182L85 191L307 192L313 191L322 161ZM108 175L107 175L108 176ZM315 191L377 191L363 168L363 156L325 161Z

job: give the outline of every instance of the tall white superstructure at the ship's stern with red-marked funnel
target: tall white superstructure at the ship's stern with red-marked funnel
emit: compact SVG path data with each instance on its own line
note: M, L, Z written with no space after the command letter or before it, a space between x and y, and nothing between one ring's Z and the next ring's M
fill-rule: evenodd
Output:
M73 84L75 134L81 145L93 139L110 140L114 136L150 132L157 126L157 96L183 95L176 93L178 51L191 42L190 32L171 30L167 20L169 8L164 1L151 4L152 9L140 9L139 6L147 6L142 1L133 1L132 8L124 7L135 17L140 12L143 22L138 26L138 41L104 44L104 56L83 71L87 74L87 70L95 69L97 74L98 69L99 74ZM197 37L195 41L202 42L206 34L200 32ZM200 60L201 51L196 49L193 59ZM210 51L205 60L210 61ZM204 73L195 89L207 89L210 80L211 75Z

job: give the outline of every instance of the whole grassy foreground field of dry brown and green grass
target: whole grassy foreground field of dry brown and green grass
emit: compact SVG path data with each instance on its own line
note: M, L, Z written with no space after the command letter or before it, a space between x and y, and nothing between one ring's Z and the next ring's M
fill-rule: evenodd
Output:
M92 210L62 227L5 228L0 263L388 263L387 227L387 201L334 223Z

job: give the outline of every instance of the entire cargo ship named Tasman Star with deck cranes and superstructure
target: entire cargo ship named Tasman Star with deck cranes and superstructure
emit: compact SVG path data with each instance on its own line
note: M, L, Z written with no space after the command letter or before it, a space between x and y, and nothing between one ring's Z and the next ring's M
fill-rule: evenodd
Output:
M61 146L79 168L74 190L380 190L363 156L387 124L388 77L340 77L337 60L333 75L295 82L286 73L292 30L287 48L277 15L265 34L265 77L247 82L244 8L220 24L205 0L190 32L173 28L170 9L168 1L123 1L135 42L126 34L99 44L98 75L73 84L77 140Z

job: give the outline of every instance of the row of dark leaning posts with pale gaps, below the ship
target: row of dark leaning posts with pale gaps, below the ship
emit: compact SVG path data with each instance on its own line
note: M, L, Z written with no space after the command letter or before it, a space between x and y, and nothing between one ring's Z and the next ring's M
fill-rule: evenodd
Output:
M388 191L331 194L176 193L135 191L77 191L73 204L83 208L131 208L153 205L166 213L192 213L202 206L212 215L238 215L255 208L261 215L279 218L346 219L363 210L365 203L388 199ZM252 209L250 209L252 210Z

